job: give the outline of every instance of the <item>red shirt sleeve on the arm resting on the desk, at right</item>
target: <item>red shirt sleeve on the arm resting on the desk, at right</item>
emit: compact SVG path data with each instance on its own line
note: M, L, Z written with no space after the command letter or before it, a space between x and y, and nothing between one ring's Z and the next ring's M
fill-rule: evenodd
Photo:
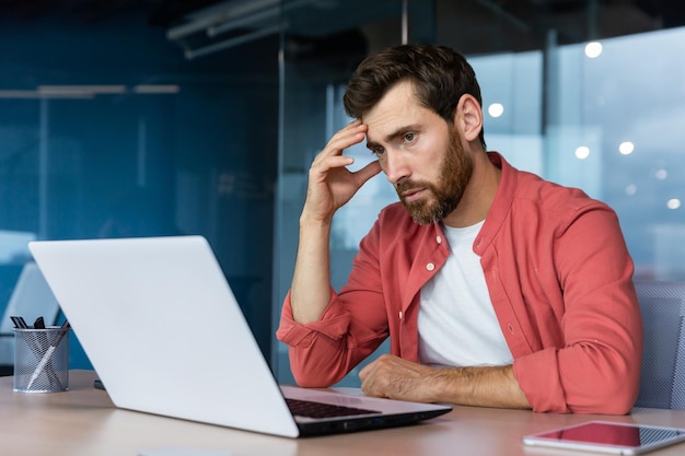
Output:
M591 204L561 226L552 258L562 347L514 356L514 375L535 411L627 413L639 389L642 323L618 220Z

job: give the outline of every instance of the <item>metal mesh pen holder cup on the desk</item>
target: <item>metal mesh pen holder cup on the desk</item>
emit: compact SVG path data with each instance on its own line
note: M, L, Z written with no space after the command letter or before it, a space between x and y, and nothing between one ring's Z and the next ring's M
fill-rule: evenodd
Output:
M69 389L70 328L14 328L14 390L57 393Z

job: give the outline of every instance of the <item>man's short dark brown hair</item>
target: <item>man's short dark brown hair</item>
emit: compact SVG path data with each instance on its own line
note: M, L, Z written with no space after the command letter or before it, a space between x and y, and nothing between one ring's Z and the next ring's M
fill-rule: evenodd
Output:
M342 98L346 113L361 118L400 81L409 81L418 102L448 122L464 94L483 105L476 73L466 58L446 46L400 45L367 57L350 79ZM485 133L478 137L485 148Z

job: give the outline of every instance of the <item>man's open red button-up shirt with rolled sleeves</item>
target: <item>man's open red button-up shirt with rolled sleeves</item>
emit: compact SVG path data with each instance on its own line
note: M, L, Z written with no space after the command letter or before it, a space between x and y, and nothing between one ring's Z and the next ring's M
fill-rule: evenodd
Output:
M535 411L627 413L642 320L616 214L489 156L501 179L473 248L521 389ZM295 381L329 386L388 336L391 353L420 362L419 293L448 255L440 224L415 223L400 203L383 209L318 321L295 323L286 297L277 337L290 346Z

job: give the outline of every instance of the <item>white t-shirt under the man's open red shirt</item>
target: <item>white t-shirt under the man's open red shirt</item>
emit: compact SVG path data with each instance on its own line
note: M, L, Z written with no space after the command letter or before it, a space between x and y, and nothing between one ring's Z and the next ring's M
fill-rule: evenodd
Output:
M443 225L452 249L445 265L421 288L419 356L423 364L473 366L512 363L490 302L473 243L484 222Z

